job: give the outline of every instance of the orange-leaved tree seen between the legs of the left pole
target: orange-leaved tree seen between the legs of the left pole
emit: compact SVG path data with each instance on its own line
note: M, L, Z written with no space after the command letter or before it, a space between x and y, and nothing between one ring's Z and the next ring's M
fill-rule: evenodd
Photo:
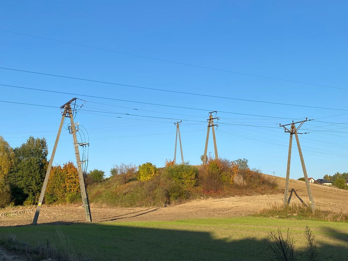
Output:
M55 201L65 201L69 193L80 193L80 184L77 168L69 161L63 167L57 165L52 167L49 175L45 201L54 203Z

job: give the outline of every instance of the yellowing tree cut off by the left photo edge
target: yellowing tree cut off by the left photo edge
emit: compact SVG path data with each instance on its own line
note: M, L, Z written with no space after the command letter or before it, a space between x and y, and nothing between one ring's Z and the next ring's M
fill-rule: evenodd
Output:
M13 167L14 153L11 146L0 136L0 208L11 202L11 190L7 181Z

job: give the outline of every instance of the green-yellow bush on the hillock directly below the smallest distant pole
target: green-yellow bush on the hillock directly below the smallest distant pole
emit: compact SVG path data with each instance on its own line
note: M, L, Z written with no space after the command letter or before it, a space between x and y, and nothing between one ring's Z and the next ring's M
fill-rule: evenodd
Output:
M164 168L164 176L171 181L192 188L196 185L198 168L187 164L172 165Z

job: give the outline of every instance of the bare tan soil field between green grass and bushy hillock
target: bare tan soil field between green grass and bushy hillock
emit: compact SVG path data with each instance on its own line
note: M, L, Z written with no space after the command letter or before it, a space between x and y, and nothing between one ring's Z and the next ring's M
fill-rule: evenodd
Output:
M284 188L285 178L277 177L279 186ZM311 184L312 195L322 210L348 213L348 190ZM303 181L290 180L290 204L308 203L306 184ZM233 217L254 214L268 204L283 203L283 194L244 196L229 198L210 198L192 200L170 207L143 208L91 208L93 222L103 221L160 221L203 217ZM35 208L17 208L0 210L0 226L31 224ZM84 222L82 207L54 206L41 208L38 223Z

